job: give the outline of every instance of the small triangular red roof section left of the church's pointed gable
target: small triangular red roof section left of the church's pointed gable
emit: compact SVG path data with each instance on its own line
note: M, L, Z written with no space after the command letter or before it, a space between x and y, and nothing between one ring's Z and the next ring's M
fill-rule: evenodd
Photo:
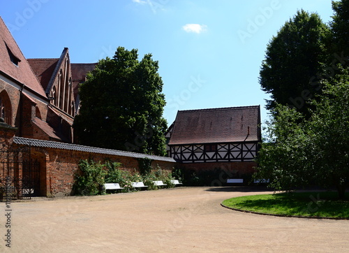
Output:
M45 90L52 77L54 68L57 66L57 59L27 59L41 86Z

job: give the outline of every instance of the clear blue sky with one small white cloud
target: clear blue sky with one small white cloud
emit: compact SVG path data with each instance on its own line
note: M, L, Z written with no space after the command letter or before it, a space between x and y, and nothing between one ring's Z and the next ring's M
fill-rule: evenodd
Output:
M159 62L167 105L177 110L260 105L258 83L267 43L297 10L329 22L329 0L16 0L0 15L27 58L73 63L112 57L118 46Z

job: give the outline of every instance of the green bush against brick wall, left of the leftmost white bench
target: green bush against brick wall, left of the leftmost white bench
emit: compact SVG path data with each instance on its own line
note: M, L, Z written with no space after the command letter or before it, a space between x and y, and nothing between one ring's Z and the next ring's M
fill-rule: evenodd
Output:
M100 162L81 160L79 171L75 174L73 192L75 195L96 195L101 194L101 189L105 183L104 164Z

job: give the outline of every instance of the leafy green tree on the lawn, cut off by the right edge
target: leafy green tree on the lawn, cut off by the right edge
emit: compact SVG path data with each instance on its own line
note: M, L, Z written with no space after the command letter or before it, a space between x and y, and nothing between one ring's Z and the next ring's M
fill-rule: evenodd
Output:
M324 95L313 101L316 110L309 122L315 178L335 186L344 198L349 184L349 75L337 75L324 84Z

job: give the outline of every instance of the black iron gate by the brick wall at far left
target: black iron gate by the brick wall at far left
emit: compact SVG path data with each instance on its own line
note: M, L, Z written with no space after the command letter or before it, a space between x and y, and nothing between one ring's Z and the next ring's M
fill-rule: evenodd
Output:
M31 157L31 147L0 150L0 199L23 199L40 194L40 162Z

